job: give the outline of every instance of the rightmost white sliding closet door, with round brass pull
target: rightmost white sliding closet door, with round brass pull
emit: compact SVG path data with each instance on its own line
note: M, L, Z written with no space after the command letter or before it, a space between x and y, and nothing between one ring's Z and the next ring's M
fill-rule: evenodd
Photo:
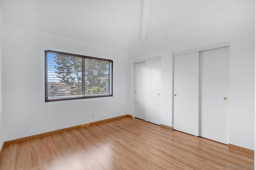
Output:
M201 62L201 134L228 144L228 56L229 48L200 52ZM224 99L227 98L227 100Z

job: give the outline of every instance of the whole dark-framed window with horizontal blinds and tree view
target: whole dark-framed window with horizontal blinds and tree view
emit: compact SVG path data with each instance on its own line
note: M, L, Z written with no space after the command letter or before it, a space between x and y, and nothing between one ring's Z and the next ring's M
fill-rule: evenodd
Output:
M45 101L109 97L113 61L45 51Z

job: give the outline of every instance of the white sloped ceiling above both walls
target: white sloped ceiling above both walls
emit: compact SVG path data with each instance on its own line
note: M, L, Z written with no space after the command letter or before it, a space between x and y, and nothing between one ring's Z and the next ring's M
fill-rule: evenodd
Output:
M214 28L218 24L225 26L225 23L234 23L230 20L233 14L231 11L236 10L240 16L240 10L236 8L242 2L243 0L0 0L0 8L5 23L129 51L134 45L152 37L172 39L176 34L196 33L202 26L210 25ZM148 10L145 8L146 3L149 4ZM223 23L219 23L220 18L224 18ZM143 22L146 28L144 30ZM142 33L146 35L145 39L141 38Z

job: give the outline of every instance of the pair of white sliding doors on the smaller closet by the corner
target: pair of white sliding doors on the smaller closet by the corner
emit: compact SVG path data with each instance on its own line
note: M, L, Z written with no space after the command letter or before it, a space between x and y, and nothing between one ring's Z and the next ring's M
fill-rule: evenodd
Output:
M161 59L134 64L134 117L160 125Z

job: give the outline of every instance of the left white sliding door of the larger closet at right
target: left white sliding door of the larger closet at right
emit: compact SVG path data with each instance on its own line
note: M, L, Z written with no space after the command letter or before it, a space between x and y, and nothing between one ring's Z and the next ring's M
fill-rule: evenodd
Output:
M198 136L199 52L174 56L175 130Z

